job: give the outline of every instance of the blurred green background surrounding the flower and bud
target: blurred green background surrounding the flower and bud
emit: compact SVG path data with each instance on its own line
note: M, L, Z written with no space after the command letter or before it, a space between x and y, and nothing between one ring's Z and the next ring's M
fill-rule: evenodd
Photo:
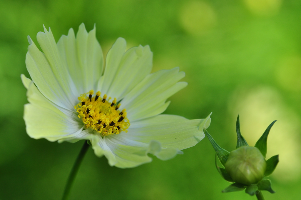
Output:
M301 1L4 1L0 0L0 199L60 199L83 141L75 144L29 138L22 119L27 103L20 74L27 35L36 42L42 24L56 41L84 22L96 23L104 53L117 37L128 48L150 45L153 71L179 66L188 86L165 111L205 118L208 131L228 151L236 146L235 120L250 145L273 120L268 155L280 154L272 174L275 194L298 199L301 186ZM37 44L37 43L36 43ZM90 149L71 191L72 199L256 199L222 194L229 185L214 166L205 138L169 161L132 169L110 167Z

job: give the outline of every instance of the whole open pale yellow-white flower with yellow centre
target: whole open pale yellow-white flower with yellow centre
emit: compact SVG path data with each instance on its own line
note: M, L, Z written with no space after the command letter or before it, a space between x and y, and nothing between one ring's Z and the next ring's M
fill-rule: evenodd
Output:
M184 88L178 68L150 73L153 54L148 45L130 48L118 38L107 54L105 68L95 27L84 24L75 36L56 43L44 27L37 34L40 52L28 36L26 67L21 75L29 103L24 106L27 134L49 141L90 140L97 156L111 166L135 167L151 162L151 153L167 160L204 138L206 119L188 120L161 114L166 99ZM94 92L95 91L95 92Z

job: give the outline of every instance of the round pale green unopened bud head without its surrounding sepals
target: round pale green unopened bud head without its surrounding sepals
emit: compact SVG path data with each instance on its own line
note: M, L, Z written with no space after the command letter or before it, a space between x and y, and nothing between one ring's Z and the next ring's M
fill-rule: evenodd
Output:
M250 185L262 180L266 162L258 148L241 146L230 152L225 169L234 182Z

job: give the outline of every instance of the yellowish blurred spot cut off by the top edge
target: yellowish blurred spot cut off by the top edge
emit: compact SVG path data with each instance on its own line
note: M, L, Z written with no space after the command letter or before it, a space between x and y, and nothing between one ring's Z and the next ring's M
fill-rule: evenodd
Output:
M270 16L279 11L282 0L244 0L244 2L253 14Z

